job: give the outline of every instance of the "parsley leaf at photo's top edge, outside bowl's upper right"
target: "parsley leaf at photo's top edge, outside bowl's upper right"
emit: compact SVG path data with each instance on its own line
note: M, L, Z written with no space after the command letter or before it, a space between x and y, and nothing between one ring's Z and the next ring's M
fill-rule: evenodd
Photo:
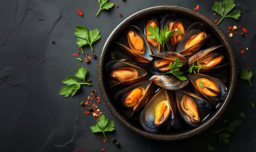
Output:
M218 25L225 17L238 20L239 17L241 16L240 10L235 10L232 13L228 14L235 6L236 4L234 3L234 0L223 0L222 3L215 1L215 3L213 4L212 10L221 16L221 19L216 25Z

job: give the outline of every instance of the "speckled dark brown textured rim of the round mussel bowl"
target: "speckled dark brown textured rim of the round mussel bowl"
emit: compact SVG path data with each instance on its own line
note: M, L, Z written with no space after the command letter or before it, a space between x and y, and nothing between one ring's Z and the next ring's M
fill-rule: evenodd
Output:
M194 129L189 129L185 132L167 134L167 133L158 133L158 132L148 132L148 131L145 131L144 129L136 128L135 126L131 125L124 116L121 116L122 114L118 113L115 106L111 103L108 93L106 92L108 88L105 88L104 86L104 67L103 67L104 61L105 61L104 59L108 53L108 47L111 44L111 42L116 39L118 35L118 31L123 29L127 25L131 25L131 22L134 22L134 20L138 20L145 16L148 16L148 13L161 13L162 11L182 14L182 16L186 16L188 18L196 18L196 20L199 20L199 22L204 23L205 26L207 26L208 28L211 28L212 33L216 33L217 39L222 43L222 45L224 45L227 51L226 54L229 61L229 86L227 86L227 96L217 108L219 110L216 110L214 113L212 113L212 115L207 120L205 120L205 122L202 122L202 124L200 124L199 126L195 127ZM205 17L201 13L198 13L189 8L172 6L172 5L150 7L132 14L131 16L123 20L112 31L112 33L106 40L106 43L104 44L101 55L99 57L98 84L99 84L104 102L106 103L108 109L115 116L115 118L126 128L130 129L131 131L139 135L148 137L150 139L166 140L166 141L185 139L185 138L192 137L194 135L198 135L199 133L208 129L217 121L217 119L219 119L222 113L226 110L227 106L229 105L229 102L232 99L232 95L234 93L235 85L236 85L236 59L235 59L232 47L229 43L229 40L227 39L225 34L222 32L222 30L220 30L215 23L213 23L211 20L209 20L207 17Z

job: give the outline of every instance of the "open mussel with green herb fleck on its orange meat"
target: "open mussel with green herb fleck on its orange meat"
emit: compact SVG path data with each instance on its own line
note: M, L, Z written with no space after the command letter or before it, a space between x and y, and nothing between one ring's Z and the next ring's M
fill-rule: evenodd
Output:
M204 74L189 74L188 78L195 91L213 106L217 106L226 97L227 87L219 79Z

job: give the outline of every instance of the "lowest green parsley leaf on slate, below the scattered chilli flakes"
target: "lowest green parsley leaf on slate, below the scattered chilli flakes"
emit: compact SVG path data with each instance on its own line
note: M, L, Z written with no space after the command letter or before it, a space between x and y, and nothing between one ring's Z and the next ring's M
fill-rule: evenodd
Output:
M108 118L106 118L104 115L101 115L97 124L95 124L95 126L91 126L90 128L91 132L102 132L106 141L108 142L108 138L105 132L111 132L115 130L114 126L114 120L108 121Z

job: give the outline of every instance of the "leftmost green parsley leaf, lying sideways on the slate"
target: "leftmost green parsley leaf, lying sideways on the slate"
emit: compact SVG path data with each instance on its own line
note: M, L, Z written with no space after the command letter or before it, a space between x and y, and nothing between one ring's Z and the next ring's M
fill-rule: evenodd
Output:
M80 89L81 85L89 85L91 86L91 83L85 82L85 75L87 73L87 69L83 66L77 66L77 71L75 73L75 76L81 80L83 80L83 83L79 83L74 76L66 76L66 79L62 81L67 86L61 87L60 95L68 97L70 94L71 96L74 96L74 94L77 92L78 89Z

